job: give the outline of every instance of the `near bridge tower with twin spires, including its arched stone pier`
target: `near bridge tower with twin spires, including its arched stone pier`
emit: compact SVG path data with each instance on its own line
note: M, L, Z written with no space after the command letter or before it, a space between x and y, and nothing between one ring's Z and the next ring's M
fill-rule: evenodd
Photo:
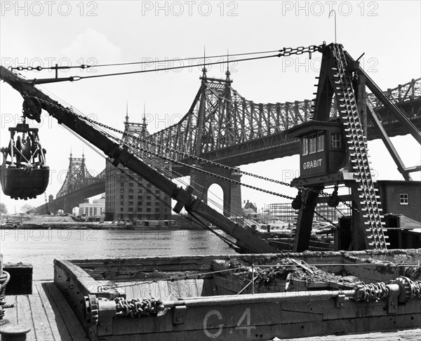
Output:
M224 126L225 131L232 132L234 124L232 122L232 89L230 88L232 80L229 78L230 72L227 67L226 79L209 78L206 75L206 66L203 66L201 79L201 88L199 90L197 101L194 103L199 105L197 111L197 126L196 126L196 141L194 155L201 156L203 150L208 149L209 145L215 145L215 137L213 133L213 122L218 121L218 126ZM227 133L226 139L234 133ZM219 138L218 145L223 145L225 142ZM235 171L220 168L219 166L211 166L208 164L201 164L196 161L196 168L205 170L208 173L218 174L224 178L240 181L241 174ZM224 209L223 213L226 216L238 215L241 213L241 186L234 182L224 180L222 178L215 178L213 175L208 175L199 170L192 170L190 172L190 185L194 188L196 196L207 203L208 189L210 185L220 185L223 195Z

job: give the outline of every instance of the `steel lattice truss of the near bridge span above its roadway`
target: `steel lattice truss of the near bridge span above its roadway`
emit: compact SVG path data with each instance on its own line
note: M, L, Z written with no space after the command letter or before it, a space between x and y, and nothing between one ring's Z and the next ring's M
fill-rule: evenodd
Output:
M386 94L396 103L421 98L421 79L389 89ZM203 95L205 117L203 126L198 127L199 104ZM375 109L382 108L373 94L369 94L369 98L374 103ZM170 149L195 154L199 128L202 129L201 154L235 147L260 138L282 134L286 129L308 121L312 118L312 105L314 105L312 100L255 103L239 95L230 86L229 81L204 79L189 112L181 121L149 136L148 140L162 147L153 145L145 147L173 159L185 159ZM335 104L330 115L337 115Z

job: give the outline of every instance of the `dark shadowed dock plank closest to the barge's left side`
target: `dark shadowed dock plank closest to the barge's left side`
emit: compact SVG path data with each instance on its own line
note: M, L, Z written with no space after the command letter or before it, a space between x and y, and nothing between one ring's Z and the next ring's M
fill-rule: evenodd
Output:
M54 283L46 283L45 288L51 294L51 297L53 297L55 305L57 305L62 319L65 321L67 330L69 330L69 334L72 335L72 340L88 341L85 331L83 330L81 323L74 314L72 307L69 306L69 303L67 303L65 297L62 295L62 293L60 293L60 290L58 290L57 286L55 286Z

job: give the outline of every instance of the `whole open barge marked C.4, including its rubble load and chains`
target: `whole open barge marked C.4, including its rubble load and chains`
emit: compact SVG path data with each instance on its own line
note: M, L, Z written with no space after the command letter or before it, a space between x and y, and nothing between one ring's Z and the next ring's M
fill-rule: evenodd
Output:
M420 250L55 260L54 281L90 340L273 340L420 328L420 260Z

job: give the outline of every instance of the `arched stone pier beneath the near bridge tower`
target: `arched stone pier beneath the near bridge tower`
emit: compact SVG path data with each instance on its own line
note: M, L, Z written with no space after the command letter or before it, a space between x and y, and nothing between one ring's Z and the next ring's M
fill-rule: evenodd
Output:
M218 166L196 166L210 173L221 175L234 181L240 181L241 173L220 168ZM224 193L224 215L236 216L242 213L241 210L241 185L229 182L224 179L215 178L212 175L192 170L190 173L190 185L194 188L194 194L204 203L208 203L208 189L211 185L220 185Z

